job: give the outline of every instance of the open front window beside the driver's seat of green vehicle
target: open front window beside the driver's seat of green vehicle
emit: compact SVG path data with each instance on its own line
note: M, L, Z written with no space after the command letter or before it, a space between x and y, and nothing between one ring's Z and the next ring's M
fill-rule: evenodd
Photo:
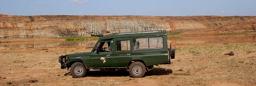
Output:
M110 48L111 48L110 41L109 42L99 42L93 52L96 53L97 52L96 49L98 49L99 52L108 52L108 51L111 51Z

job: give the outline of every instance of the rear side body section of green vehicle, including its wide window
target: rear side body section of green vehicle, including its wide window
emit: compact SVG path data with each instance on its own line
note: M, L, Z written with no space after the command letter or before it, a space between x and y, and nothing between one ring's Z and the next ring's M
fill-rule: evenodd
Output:
M133 38L132 59L143 60L146 66L168 63L166 38L166 36Z

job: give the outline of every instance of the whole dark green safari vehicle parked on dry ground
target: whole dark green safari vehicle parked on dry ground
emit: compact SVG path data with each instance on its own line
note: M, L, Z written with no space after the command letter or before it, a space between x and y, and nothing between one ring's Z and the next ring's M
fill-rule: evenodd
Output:
M161 30L100 35L91 52L61 55L59 62L74 78L84 77L90 69L110 68L125 68L139 78L154 65L172 64L174 57L175 44L168 48L167 32Z

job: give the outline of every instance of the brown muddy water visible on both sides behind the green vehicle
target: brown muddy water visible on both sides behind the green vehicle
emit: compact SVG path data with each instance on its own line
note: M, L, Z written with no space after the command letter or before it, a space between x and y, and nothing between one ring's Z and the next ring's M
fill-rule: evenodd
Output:
M244 42L256 42L256 34L209 35L209 36L190 36L190 37L172 37L170 35L167 36L168 45L173 40L176 40L176 44L244 43ZM19 47L27 47L27 46L93 47L96 44L96 42L97 40L72 41L72 42L68 42L68 41L9 42L9 43L0 43L0 48L19 48Z

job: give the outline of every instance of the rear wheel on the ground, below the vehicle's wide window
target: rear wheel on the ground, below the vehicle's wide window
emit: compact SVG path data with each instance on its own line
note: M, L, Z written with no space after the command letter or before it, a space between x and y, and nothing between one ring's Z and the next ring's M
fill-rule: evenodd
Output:
M146 67L143 63L141 62L133 62L130 65L129 68L129 73L132 77L134 78L140 78L143 77L144 74L146 73Z

